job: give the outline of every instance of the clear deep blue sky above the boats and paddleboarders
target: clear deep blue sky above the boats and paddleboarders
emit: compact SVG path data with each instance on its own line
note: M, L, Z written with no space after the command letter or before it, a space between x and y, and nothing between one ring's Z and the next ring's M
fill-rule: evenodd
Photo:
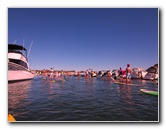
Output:
M9 8L8 43L31 69L107 70L158 63L157 8Z

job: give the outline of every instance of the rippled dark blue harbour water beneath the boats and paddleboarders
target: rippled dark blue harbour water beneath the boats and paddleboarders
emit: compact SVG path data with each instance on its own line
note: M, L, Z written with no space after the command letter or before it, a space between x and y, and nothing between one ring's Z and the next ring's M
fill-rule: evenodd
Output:
M8 84L8 111L17 121L158 121L158 90L148 81L118 85L107 78L66 77L66 81L33 80Z

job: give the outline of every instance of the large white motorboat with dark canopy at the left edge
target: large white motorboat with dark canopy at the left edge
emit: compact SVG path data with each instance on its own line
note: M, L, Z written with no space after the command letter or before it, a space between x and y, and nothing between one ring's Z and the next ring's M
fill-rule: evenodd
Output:
M8 82L33 78L27 59L27 50L20 45L8 44Z

